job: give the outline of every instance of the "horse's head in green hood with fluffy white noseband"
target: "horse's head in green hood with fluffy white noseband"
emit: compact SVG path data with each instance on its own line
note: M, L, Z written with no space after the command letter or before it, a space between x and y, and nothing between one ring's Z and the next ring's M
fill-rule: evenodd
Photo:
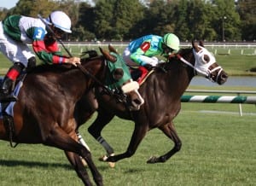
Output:
M128 67L125 65L125 61L113 49L111 45L108 45L110 52L107 52L100 48L102 55L108 61L109 76L107 85L111 89L119 89L127 96L128 108L130 110L138 110L143 105L143 97L139 94L139 84L137 81L132 81L131 74Z

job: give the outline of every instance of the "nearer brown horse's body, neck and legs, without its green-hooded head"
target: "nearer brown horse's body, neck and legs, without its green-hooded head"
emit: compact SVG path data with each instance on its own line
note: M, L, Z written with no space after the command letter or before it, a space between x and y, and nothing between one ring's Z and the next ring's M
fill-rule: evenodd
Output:
M115 56L105 51L103 55L82 59L79 67L65 64L34 67L26 74L18 101L12 102L13 120L10 116L6 118L6 113L0 119L0 139L16 143L43 143L60 148L84 185L92 185L80 159L83 157L96 185L103 185L102 175L90 152L79 143L74 110L76 102L90 88L103 84L108 73L106 61L114 60ZM6 125L4 119L13 121L13 125Z

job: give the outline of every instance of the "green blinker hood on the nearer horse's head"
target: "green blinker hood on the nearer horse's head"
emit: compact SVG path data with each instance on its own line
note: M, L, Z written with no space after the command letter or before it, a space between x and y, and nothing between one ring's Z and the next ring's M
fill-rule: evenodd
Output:
M131 74L129 68L125 65L123 58L110 52L110 55L113 55L117 60L115 62L108 61L109 72L106 76L105 84L111 90L119 89L125 82L131 79Z

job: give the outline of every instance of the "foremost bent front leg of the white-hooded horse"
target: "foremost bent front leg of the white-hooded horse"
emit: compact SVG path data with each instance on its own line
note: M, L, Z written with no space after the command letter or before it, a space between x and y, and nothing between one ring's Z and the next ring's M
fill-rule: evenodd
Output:
M182 146L182 142L177 136L177 131L175 130L175 127L173 125L173 122L168 123L167 125L162 125L159 127L161 131L163 131L167 137L172 139L172 142L174 142L174 147L167 152L164 155L161 155L160 157L151 157L147 163L158 163L158 162L166 162L166 160L170 159L173 154L176 154L177 151L180 150Z

